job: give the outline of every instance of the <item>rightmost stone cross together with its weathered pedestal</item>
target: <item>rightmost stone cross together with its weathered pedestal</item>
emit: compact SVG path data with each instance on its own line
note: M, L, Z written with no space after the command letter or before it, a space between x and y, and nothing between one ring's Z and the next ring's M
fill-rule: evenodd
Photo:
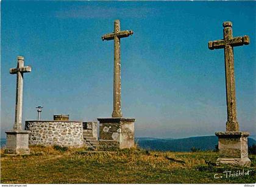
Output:
M249 132L240 132L236 118L235 72L233 47L249 44L249 37L233 37L232 23L223 23L223 40L209 41L209 49L224 49L226 71L227 122L226 132L216 132L219 142L219 158L217 164L235 164L249 166L247 137Z

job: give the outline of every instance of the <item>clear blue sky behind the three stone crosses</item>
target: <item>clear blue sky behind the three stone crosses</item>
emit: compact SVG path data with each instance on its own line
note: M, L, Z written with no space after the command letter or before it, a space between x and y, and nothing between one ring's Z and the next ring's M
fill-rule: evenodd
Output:
M97 121L113 110L113 32L120 19L122 111L136 118L135 135L185 137L226 130L224 50L210 40L223 38L222 22L233 36L251 43L234 48L238 121L256 133L256 2L1 2L1 136L15 117L16 57L24 74L23 125L54 114Z

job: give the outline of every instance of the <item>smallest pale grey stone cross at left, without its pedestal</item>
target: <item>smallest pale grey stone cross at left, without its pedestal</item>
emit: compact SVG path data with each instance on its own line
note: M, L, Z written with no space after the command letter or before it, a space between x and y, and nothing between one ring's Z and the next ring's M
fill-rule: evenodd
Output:
M10 69L10 74L17 74L16 79L16 105L15 124L13 129L21 130L22 102L23 102L23 73L30 72L30 66L24 66L24 57L18 56L17 68Z

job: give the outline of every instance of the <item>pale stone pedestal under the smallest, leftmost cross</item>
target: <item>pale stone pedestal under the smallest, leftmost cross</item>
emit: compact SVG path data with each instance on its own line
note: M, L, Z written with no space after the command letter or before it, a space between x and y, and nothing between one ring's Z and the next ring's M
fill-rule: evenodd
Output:
M29 154L29 131L9 130L7 134L6 148L4 153L15 155Z

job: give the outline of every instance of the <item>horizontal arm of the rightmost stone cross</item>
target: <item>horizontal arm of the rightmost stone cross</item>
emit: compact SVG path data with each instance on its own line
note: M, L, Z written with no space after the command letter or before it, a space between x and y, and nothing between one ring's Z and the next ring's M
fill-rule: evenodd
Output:
M208 42L208 48L209 49L222 49L227 44L230 44L231 46L243 46L249 44L250 40L248 36L244 37L234 37L230 40L215 40L215 41L209 41Z

